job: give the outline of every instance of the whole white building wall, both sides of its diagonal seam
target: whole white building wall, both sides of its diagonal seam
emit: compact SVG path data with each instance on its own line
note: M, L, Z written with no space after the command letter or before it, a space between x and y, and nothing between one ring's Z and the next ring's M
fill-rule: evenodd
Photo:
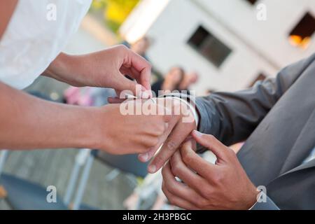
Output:
M307 50L294 48L287 36L307 9L314 10L314 0L260 2L267 6L264 22L256 19L255 6L245 0L169 0L146 31L153 38L148 57L163 73L174 65L198 71L201 78L193 89L203 94L209 88L243 89L259 73L275 76L279 68L315 51L315 43ZM137 22L134 24L137 27ZM199 25L232 49L219 69L187 44Z

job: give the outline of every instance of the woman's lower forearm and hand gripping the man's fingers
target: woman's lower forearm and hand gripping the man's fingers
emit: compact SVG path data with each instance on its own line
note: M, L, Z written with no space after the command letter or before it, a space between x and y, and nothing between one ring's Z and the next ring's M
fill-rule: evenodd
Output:
M126 104L99 108L56 104L1 82L0 105L0 148L18 150L95 148L120 155L146 153L159 144L172 118L163 115L167 113L126 114ZM151 109L167 111L158 104Z

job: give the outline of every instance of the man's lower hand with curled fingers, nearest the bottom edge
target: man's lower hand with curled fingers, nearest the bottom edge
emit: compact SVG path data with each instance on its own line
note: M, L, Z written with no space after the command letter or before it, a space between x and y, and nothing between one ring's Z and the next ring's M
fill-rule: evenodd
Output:
M216 165L200 158L187 141L162 169L169 202L183 209L250 209L258 191L235 152L213 136L194 131L193 138L216 155Z

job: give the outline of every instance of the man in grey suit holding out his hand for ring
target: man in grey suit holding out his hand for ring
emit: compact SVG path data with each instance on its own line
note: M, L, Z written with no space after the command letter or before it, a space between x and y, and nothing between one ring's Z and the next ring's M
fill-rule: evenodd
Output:
M170 159L162 188L184 209L315 209L314 85L315 54L248 90L197 97L197 124L172 125L159 153L144 156L155 155L149 172ZM237 154L227 147L244 140Z

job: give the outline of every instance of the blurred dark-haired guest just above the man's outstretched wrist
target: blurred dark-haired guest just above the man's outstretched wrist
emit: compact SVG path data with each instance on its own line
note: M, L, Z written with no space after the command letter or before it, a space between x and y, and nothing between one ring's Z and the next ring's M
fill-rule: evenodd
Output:
M159 96L159 90L170 92L181 90L180 85L184 77L185 71L181 67L175 66L169 70L164 79L158 80L152 85L152 91L155 93L155 96Z

